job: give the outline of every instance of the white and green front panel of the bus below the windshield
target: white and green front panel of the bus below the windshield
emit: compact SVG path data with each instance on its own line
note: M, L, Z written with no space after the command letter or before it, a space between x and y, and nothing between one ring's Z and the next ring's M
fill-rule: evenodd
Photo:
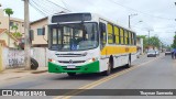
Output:
M48 62L48 72L50 73L99 73L100 69L100 51L99 47L89 51L80 51L80 52L72 52L74 55L87 53L86 56L80 57L68 57L68 56L59 56L70 54L70 52L50 52L50 58L55 62ZM90 62L91 58L95 58L95 62ZM72 62L70 62L72 61ZM75 66L75 68L67 68L67 66Z

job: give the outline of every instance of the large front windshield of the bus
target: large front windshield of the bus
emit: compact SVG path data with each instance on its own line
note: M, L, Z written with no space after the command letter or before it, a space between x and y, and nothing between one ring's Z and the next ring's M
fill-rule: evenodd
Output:
M97 23L52 24L48 28L52 51L86 51L99 45Z

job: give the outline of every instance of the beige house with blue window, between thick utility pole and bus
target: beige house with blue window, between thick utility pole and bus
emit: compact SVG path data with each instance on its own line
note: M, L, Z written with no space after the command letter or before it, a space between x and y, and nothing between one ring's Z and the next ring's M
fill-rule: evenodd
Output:
M47 24L48 18L43 18L31 22L31 41L34 47L47 47ZM43 35L43 29L45 29L45 35Z

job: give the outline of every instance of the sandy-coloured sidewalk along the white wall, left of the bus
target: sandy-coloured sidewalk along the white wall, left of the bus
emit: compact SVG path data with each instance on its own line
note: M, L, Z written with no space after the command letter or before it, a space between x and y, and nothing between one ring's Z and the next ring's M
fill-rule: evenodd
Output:
M6 69L0 73L0 80L21 78L32 74L46 73L47 67L38 67L36 70L25 70L24 68Z

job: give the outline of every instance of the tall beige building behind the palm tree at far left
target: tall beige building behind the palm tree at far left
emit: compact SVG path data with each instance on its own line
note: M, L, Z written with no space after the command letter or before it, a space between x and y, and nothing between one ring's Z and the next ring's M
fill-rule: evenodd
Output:
M20 32L24 34L24 21L16 18L10 18L9 22L9 16L4 13L3 9L0 9L0 29L9 30L9 25L11 33ZM13 25L16 25L18 30L12 30Z

